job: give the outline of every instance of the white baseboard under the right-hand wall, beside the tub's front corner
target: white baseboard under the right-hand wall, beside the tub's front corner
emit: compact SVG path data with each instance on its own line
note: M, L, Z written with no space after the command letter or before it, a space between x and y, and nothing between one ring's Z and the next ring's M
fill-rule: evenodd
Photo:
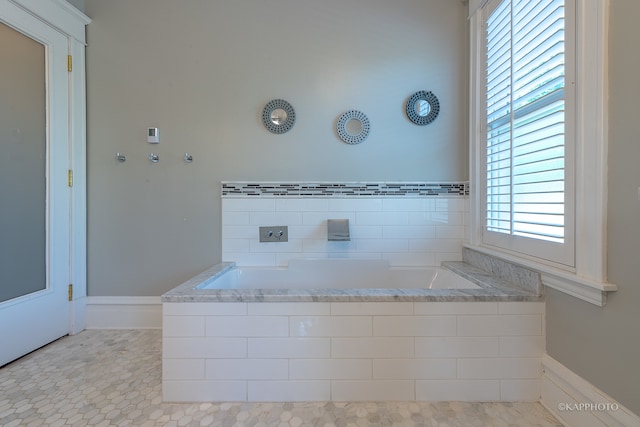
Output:
M542 357L540 403L569 427L633 427L640 418L553 359Z

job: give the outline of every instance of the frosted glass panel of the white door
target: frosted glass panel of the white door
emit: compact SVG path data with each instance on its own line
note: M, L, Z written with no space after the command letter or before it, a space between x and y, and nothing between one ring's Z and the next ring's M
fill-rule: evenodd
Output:
M0 23L0 302L46 288L45 48Z

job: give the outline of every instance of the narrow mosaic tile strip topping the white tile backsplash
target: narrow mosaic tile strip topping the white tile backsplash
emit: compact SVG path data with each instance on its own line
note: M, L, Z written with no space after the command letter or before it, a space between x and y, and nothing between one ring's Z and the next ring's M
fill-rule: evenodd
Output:
M222 197L464 197L468 182L222 181Z

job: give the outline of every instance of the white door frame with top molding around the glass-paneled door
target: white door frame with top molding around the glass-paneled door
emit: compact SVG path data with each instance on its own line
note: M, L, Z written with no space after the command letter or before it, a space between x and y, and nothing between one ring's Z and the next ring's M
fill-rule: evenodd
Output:
M91 19L65 0L0 0L0 18L9 22L3 10L17 6L67 38L70 55L68 104L69 170L69 281L73 292L69 302L69 334L85 328L87 296L87 167L86 167L86 79L85 27ZM20 30L20 22L11 26Z

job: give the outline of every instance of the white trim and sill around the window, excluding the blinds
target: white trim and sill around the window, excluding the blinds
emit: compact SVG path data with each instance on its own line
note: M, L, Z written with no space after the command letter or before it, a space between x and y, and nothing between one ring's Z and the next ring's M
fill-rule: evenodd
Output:
M609 0L576 2L575 269L567 271L482 242L482 13L486 1L469 2L470 25L470 227L469 248L542 273L544 285L604 306L607 282L607 43Z

